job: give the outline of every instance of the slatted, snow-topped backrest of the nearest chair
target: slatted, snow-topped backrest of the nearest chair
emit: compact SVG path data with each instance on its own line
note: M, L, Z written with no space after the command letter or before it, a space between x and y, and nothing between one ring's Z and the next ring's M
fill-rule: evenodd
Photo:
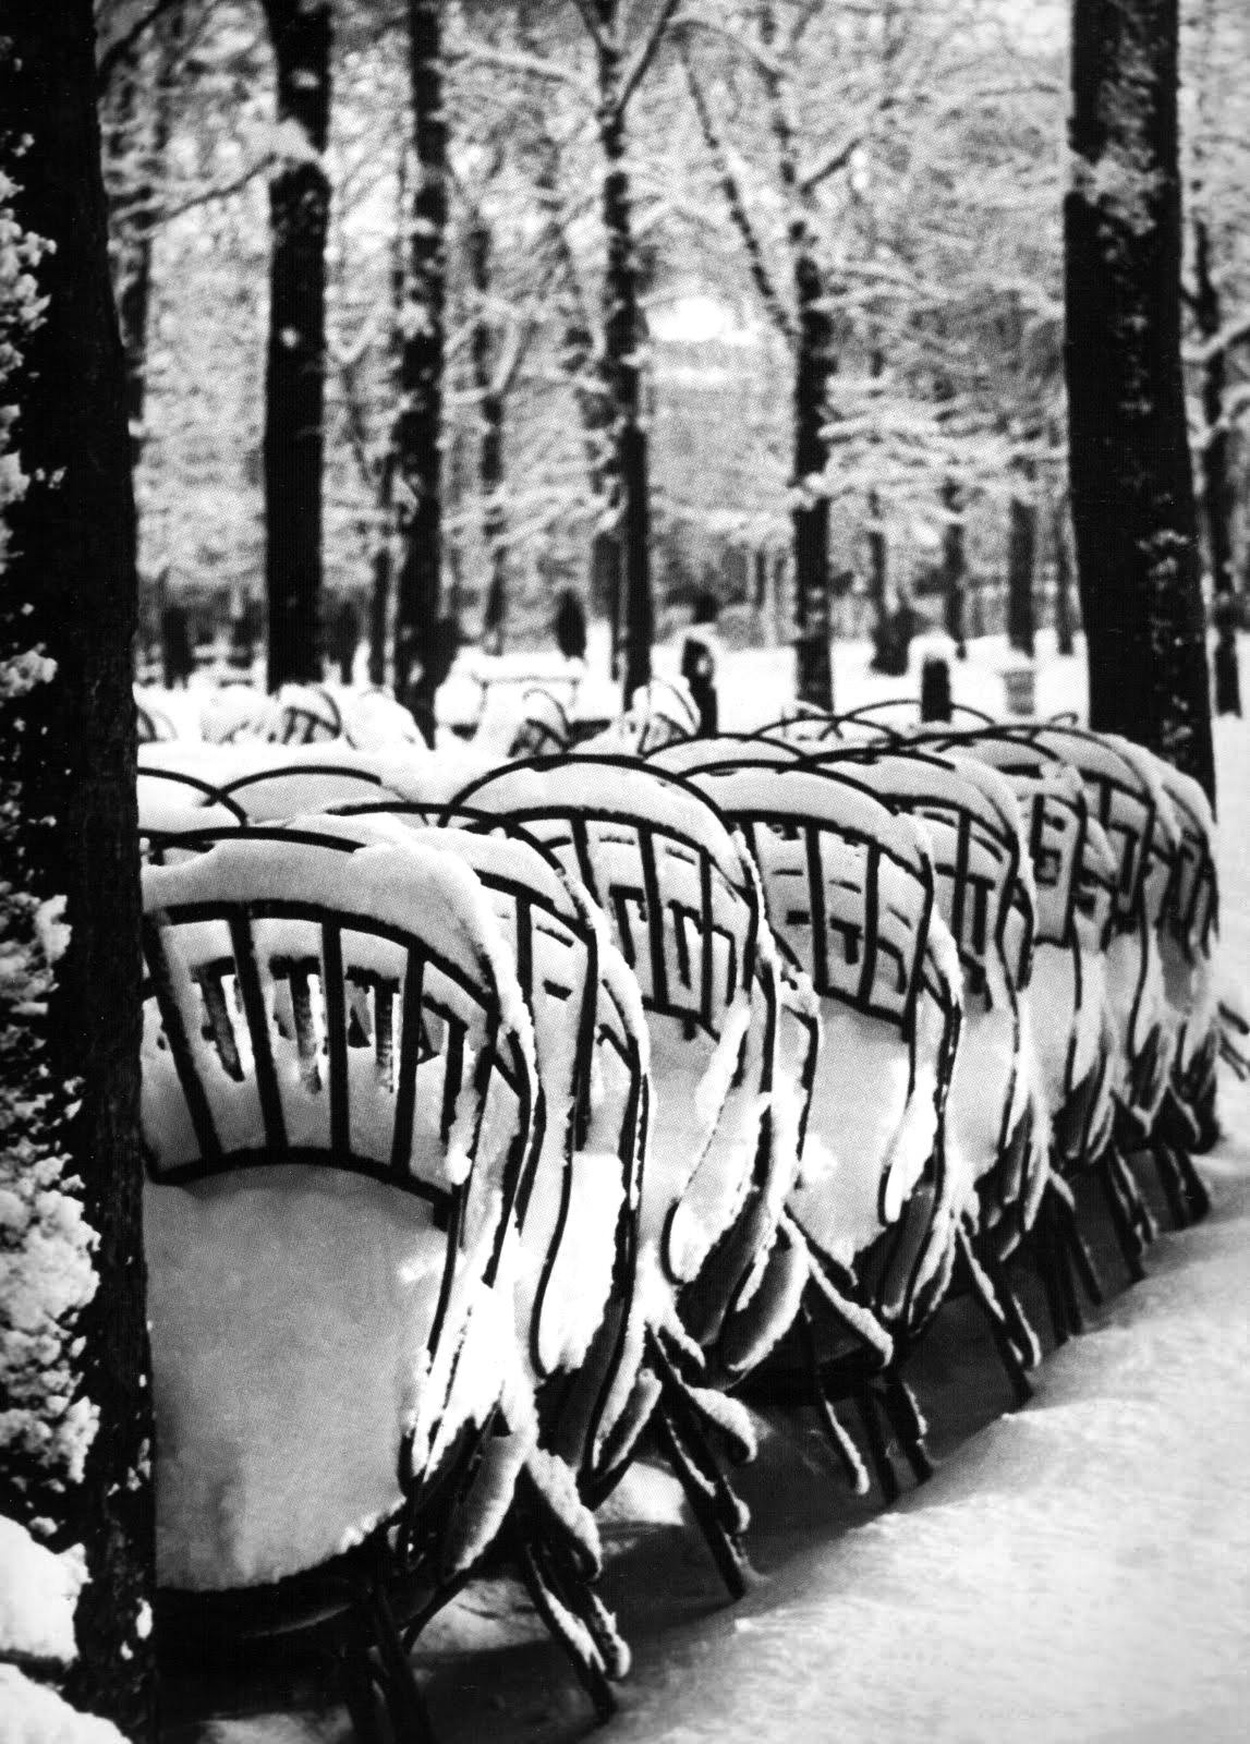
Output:
M225 839L146 870L145 956L153 1179L316 1155L446 1203L490 1104L500 1130L514 1125L495 1188L509 1203L523 1189L532 1027L465 867L429 849Z

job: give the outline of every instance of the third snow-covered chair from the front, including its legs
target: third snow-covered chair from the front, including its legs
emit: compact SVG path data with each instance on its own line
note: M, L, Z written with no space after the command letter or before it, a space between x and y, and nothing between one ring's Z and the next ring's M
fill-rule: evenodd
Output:
M703 1428L744 1456L750 1423L708 1383L762 1359L805 1284L802 1238L779 1224L811 1067L779 1073L778 1031L785 1003L811 1057L814 1013L781 985L750 862L683 780L624 757L542 759L483 776L450 816L459 807L509 818L554 853L638 978L652 1076L638 1223L647 1371L605 1458L619 1468L650 1425L741 1592L741 1505Z

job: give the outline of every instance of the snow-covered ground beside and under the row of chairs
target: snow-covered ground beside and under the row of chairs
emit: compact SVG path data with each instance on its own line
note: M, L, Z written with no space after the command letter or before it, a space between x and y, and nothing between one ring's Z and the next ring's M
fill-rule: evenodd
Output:
M1002 657L975 645L955 698L1001 712ZM865 659L839 651L842 708L900 689ZM725 726L764 719L786 675L786 651L730 656ZM1044 659L1039 712L1079 708L1081 687L1079 661ZM1224 970L1247 989L1250 726L1219 722L1217 741ZM739 1474L758 1582L737 1606L682 1524L675 1484L631 1474L603 1523L601 1591L635 1650L615 1744L1247 1737L1250 1090L1226 1080L1220 1116L1226 1139L1201 1163L1213 1214L1156 1242L1145 1284L1123 1289L1104 1214L1086 1207L1111 1299L1048 1355L1023 1411L1002 1414L1008 1386L966 1305L943 1311L912 1371L940 1470L887 1514L846 1493L811 1416L769 1414L758 1461ZM1043 1325L1039 1294L1030 1306ZM420 1664L445 1744L594 1730L507 1585L471 1589ZM206 1735L174 1730L180 1744ZM213 1744L336 1744L347 1720L310 1706L207 1732Z

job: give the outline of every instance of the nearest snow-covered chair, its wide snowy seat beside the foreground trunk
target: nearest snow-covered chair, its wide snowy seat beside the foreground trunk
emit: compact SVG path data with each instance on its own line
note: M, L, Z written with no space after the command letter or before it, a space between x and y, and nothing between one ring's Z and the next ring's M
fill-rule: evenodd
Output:
M448 855L289 832L148 869L143 949L159 1636L316 1632L361 1737L378 1699L425 1735L392 1603L464 1577L535 1439L509 952Z

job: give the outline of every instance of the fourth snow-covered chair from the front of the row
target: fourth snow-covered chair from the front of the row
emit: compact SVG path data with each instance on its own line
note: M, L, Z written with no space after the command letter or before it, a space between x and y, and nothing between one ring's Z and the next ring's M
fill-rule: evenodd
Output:
M809 1343L804 1357L812 1402L856 1486L866 1474L833 1397L854 1397L893 1498L880 1421L917 1479L927 1477L900 1366L955 1259L943 1121L961 984L934 909L933 860L910 818L842 771L739 766L692 780L743 832L772 933L821 1001L811 1118L786 1202L812 1254L807 1303L823 1313L826 1348ZM804 1336L814 1336L811 1318Z

